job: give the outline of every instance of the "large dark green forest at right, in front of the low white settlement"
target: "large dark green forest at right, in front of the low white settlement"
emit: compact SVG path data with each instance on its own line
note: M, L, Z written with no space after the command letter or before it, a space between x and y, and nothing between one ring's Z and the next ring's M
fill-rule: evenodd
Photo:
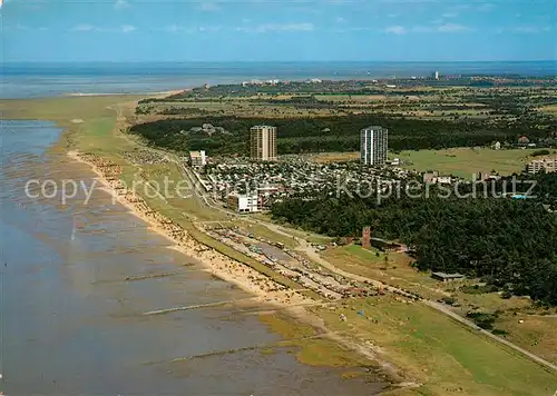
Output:
M292 197L272 216L306 230L338 236L373 235L414 250L420 270L463 273L515 295L557 305L557 215L543 201L557 197L557 175L543 175L538 199L359 198L335 191ZM525 185L526 186L526 185ZM331 196L329 192L333 192Z

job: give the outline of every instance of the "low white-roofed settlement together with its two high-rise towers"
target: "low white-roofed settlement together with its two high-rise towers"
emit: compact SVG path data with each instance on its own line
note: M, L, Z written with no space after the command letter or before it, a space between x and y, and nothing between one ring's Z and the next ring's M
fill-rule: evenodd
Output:
M203 130L215 129L203 126ZM277 161L276 127L254 126L250 129L250 160L227 158L208 165L204 150L190 151L189 164L197 181L206 191L237 212L257 212L273 201L292 195L313 195L322 190L354 191L361 186L383 190L411 174L395 168L398 159L388 161L388 129L372 126L360 131L360 164L320 165L301 157ZM392 165L384 168L384 165Z

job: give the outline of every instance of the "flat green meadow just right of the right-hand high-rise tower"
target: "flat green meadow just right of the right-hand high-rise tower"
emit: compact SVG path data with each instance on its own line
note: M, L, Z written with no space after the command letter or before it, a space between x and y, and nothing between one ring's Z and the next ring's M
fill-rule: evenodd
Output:
M402 151L392 155L403 161L411 161L408 169L418 171L439 170L441 174L471 179L473 174L495 170L500 175L520 172L531 160L529 150L491 150L488 148L456 148L447 150Z

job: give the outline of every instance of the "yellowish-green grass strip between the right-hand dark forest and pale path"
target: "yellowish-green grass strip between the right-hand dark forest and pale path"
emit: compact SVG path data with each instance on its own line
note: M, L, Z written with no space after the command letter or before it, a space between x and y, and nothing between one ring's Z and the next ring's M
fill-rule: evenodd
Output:
M494 327L507 331L506 339L549 362L557 363L556 309L549 311L548 316L538 316L541 310L532 308L531 301L527 297L502 299L498 293L463 293L460 290L461 286L475 285L477 281L469 279L449 284L439 283L432 279L429 274L419 273L411 268L409 266L410 259L403 254L389 254L389 264L385 265L384 258L387 256L383 253L370 251L361 246L351 245L329 249L323 253L323 257L348 273L382 280L389 285L418 293L429 299L437 300L450 296L459 303L460 307L453 310L461 316L466 316L471 309L489 313L500 311ZM524 323L519 320L524 320Z

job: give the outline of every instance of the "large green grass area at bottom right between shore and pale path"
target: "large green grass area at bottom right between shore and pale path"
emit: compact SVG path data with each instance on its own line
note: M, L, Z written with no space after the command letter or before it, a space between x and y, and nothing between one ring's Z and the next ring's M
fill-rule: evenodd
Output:
M389 360L423 384L404 394L551 396L557 389L554 373L420 304L375 297L338 308L312 309L331 328L380 346ZM341 313L346 321L339 319Z

